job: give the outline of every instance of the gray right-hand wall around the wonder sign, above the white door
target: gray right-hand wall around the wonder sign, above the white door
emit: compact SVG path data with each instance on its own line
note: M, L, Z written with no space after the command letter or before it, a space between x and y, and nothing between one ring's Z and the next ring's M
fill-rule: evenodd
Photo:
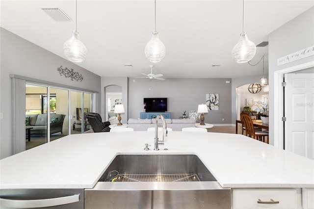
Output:
M314 61L314 56L305 57L280 66L277 59L314 45L314 7L289 21L269 34L269 137L274 137L274 72Z

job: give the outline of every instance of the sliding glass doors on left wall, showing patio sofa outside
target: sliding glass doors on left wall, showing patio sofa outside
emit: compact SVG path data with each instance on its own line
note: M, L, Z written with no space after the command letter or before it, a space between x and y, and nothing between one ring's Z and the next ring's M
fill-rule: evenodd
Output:
M92 108L93 93L26 83L26 150L91 130L86 114Z

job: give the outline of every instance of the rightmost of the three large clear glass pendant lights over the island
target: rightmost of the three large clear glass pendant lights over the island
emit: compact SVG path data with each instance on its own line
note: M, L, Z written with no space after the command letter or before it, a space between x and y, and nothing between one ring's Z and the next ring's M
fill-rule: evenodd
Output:
M244 32L244 0L242 11L242 33L240 39L232 50L231 56L237 63L244 63L250 61L256 53L255 44L249 40L246 32Z

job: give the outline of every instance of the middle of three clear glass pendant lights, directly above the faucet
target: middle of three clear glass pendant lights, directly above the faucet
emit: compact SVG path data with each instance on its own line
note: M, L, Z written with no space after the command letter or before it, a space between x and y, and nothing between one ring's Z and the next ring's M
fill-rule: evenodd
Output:
M156 30L156 0L155 0L155 30L152 39L145 46L145 55L151 62L160 62L165 56L166 49L163 43L158 38Z

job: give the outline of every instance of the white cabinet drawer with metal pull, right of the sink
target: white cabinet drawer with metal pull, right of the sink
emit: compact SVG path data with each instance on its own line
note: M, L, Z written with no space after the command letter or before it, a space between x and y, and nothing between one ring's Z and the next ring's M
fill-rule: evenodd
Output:
M233 189L233 209L301 209L301 204L301 189Z

